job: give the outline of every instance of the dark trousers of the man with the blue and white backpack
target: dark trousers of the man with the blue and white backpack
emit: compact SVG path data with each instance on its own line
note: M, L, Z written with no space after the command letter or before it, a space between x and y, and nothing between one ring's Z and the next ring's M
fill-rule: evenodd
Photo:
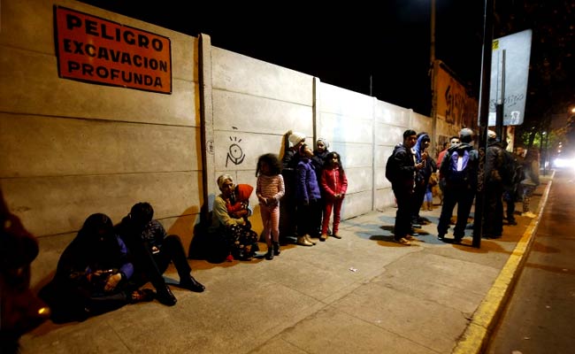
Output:
M440 221L437 224L437 234L447 234L451 215L453 215L453 208L455 208L457 204L457 222L453 235L456 238L462 238L465 235L467 219L469 218L470 212L472 212L475 190L449 186L446 186L443 190L443 204L441 205Z

